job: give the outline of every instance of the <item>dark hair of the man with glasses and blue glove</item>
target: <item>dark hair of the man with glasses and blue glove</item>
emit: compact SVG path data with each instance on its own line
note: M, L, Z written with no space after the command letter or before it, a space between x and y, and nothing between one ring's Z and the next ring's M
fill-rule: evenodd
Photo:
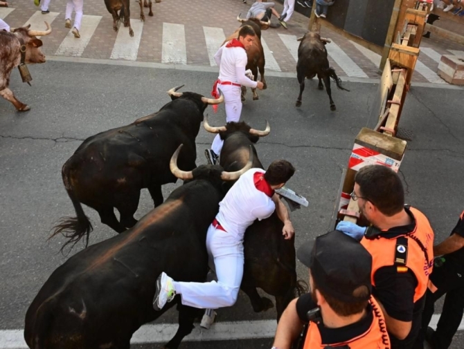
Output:
M389 167L373 164L362 167L355 176L359 196L366 198L386 216L404 207L404 189L398 173Z

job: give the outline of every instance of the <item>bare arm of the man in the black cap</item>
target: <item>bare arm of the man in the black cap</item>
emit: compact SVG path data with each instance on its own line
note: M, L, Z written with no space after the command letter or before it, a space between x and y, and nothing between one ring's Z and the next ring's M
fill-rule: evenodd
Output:
M273 344L278 349L290 349L303 328L303 323L296 312L296 301L297 299L294 299L289 303L278 321Z

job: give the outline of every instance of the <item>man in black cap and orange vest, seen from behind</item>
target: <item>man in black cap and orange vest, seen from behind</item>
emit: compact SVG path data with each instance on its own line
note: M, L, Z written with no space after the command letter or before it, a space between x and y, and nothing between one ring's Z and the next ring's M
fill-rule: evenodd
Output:
M289 349L308 322L303 349L391 348L371 296L372 257L357 240L334 230L301 245L297 256L310 268L311 292L289 303L273 349Z

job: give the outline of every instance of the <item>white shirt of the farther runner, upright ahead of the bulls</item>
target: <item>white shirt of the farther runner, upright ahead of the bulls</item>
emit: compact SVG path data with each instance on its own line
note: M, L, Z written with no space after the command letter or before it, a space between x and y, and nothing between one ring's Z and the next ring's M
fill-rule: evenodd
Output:
M248 63L247 51L241 47L226 47L227 44L229 41L214 55L215 62L219 66L219 79L223 82L235 82L256 88L257 83L245 76Z

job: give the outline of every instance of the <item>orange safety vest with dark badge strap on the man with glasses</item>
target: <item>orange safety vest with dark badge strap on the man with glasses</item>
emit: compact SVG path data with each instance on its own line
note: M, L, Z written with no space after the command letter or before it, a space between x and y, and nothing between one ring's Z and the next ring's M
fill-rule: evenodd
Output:
M393 238L386 238L382 234L373 240L364 237L361 243L372 256L372 285L375 286L374 275L381 267L396 265L398 272L412 270L418 280L413 299L416 303L427 291L434 265L434 231L422 212L413 207L409 210L416 218L416 227L412 232Z

